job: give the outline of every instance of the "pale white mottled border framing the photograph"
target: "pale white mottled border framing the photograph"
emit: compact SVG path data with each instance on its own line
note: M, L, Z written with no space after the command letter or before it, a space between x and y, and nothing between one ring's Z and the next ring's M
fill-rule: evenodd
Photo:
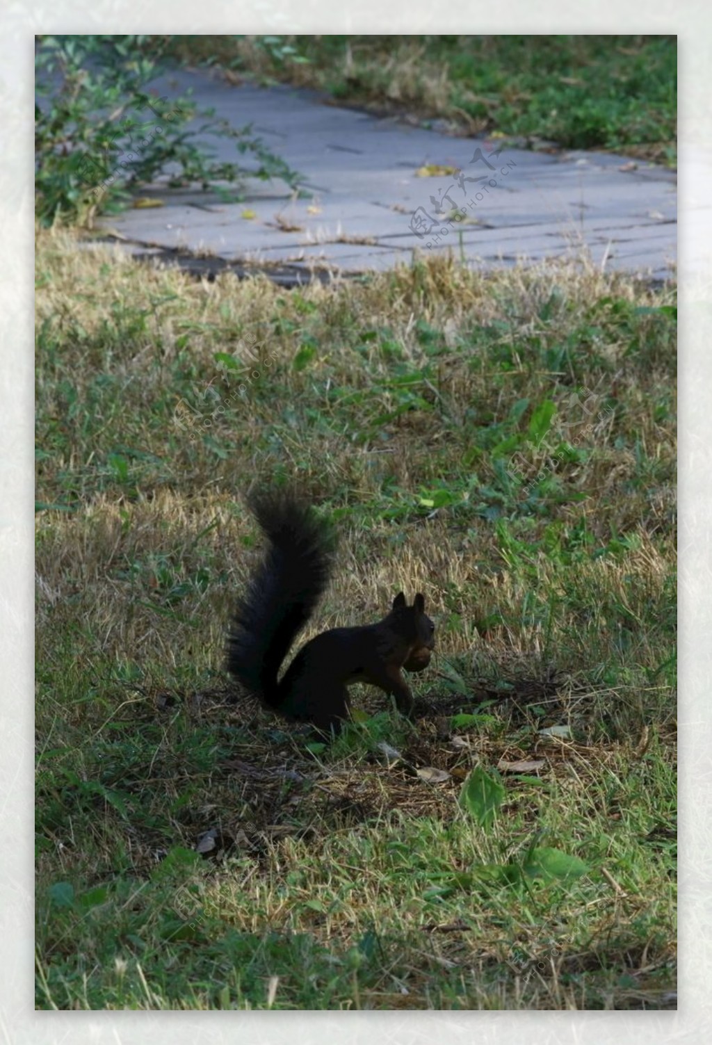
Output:
M135 6L135 5L132 5ZM151 1043L222 1045L235 1034L255 1043L430 1042L453 1045L477 1038L506 1045L523 1039L537 1045L637 1040L654 1045L672 1039L704 1041L712 1025L710 931L712 905L707 884L706 844L710 832L709 764L712 695L706 682L712 650L710 584L710 446L712 445L712 291L710 243L712 179L712 65L709 61L712 9L671 0L637 4L598 0L573 13L566 0L509 0L475 5L454 0L445 8L409 0L389 10L368 0L358 9L337 11L330 0L257 2L242 17L232 4L203 5L158 0L151 19L128 14L108 0L56 0L48 10L13 5L0 33L0 136L5 157L0 192L3 280L0 282L2 362L0 401L0 902L4 946L0 952L0 1045L49 1043ZM681 573L681 911L680 1005L676 1013L36 1013L32 989L32 40L37 32L677 32L681 114L681 488L683 563ZM7 162L9 161L9 162ZM707 509L708 514L705 515ZM644 1022L644 1029L643 1029Z

